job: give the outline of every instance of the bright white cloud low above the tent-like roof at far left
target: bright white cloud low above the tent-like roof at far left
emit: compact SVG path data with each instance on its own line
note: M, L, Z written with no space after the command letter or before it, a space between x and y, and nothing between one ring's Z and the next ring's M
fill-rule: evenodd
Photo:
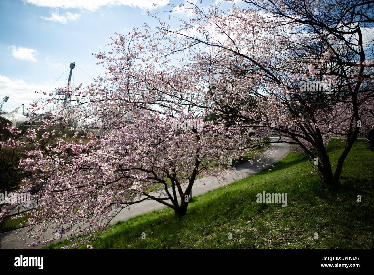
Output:
M45 85L29 84L22 79L9 79L9 77L0 74L0 100L5 95L9 96L9 100L4 103L3 110L12 111L22 104L28 107L29 103L40 96L35 91L45 91L47 88L48 86Z

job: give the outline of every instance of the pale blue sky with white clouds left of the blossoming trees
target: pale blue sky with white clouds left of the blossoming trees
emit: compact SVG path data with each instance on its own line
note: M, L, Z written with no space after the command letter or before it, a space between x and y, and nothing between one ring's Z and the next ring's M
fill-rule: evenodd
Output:
M27 107L40 96L35 91L64 86L69 70L55 80L70 62L76 63L73 84L88 85L91 77L103 74L92 53L105 51L114 32L125 34L154 22L147 9L165 11L180 3L183 0L1 0L0 101L9 96L3 110Z

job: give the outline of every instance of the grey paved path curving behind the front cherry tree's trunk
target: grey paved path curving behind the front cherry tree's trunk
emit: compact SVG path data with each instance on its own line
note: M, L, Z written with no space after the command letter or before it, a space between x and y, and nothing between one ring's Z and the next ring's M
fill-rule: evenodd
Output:
M273 140L273 138L272 138ZM274 140L278 140L278 138L274 138ZM269 166L275 164L276 162L283 159L288 152L290 151L290 147L286 143L273 143L268 150L266 150L263 154L258 156L254 159L254 164L251 165L249 162L239 164L236 166L236 171L227 174L224 179L222 178L215 178L215 177L203 177L199 178L195 181L192 188L192 195L197 196L203 193L206 193L210 190L217 189L221 186L226 184L232 183L236 180L241 178L245 178L248 175L255 174L262 169L268 168ZM267 164L264 165L264 159L266 159ZM263 167L263 165L265 167ZM153 210L158 210L164 208L165 205L153 201L147 200L142 201L138 204L134 204L131 208L125 208L120 211L116 217L111 220L111 223L116 223L117 221L127 220L131 217L138 216L140 214L144 214ZM22 230L19 232L20 229L11 230L8 232L0 233L0 249L15 249L15 248L25 248L29 249L30 247L25 246L25 241L20 241L19 238L23 235ZM19 232L16 234L16 232ZM53 238L52 233L46 232L44 234L46 239ZM31 240L28 240L31 242ZM41 245L39 247L42 247ZM37 248L39 248L37 247Z

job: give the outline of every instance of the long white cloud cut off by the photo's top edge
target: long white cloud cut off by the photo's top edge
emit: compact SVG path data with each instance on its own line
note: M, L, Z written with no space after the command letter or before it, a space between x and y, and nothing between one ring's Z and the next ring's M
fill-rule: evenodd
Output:
M25 3L34 4L40 7L64 8L64 9L87 9L96 10L106 5L127 5L131 7L139 7L141 9L154 9L158 6L165 6L169 0L23 0Z

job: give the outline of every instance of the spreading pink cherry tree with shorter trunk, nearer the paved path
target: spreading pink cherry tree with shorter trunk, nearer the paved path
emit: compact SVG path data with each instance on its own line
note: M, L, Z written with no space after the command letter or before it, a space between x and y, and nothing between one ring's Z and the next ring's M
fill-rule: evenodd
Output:
M196 178L223 177L258 146L254 129L215 123L209 109L180 104L203 98L199 75L166 59L147 61L143 39L137 31L113 39L113 51L96 55L107 74L62 89L68 104L56 106L53 93L33 104L34 113L48 111L28 131L34 150L20 162L32 173L21 191L34 190L39 202L29 211L31 246L53 241L43 239L47 230L79 235L73 247L85 244L148 199L184 216Z

